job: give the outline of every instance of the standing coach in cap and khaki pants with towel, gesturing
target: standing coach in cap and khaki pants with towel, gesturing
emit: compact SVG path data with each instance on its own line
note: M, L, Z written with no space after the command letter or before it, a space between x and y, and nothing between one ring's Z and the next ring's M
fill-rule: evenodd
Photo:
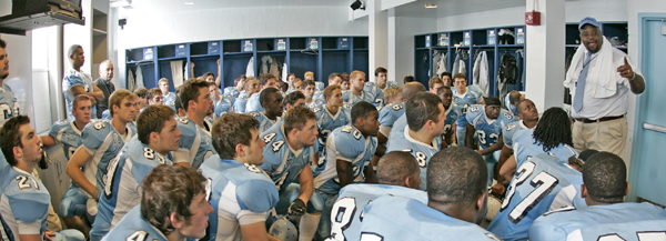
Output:
M602 34L596 19L581 20L578 29L582 43L564 81L573 93L574 147L578 152L595 149L622 155L627 140L627 92L643 93L645 79L627 54Z

